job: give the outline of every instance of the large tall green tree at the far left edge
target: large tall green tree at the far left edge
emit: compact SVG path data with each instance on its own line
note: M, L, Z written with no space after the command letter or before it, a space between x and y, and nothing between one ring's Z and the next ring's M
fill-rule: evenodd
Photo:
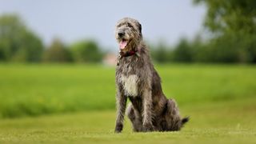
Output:
M0 16L0 61L38 62L42 41L14 14Z

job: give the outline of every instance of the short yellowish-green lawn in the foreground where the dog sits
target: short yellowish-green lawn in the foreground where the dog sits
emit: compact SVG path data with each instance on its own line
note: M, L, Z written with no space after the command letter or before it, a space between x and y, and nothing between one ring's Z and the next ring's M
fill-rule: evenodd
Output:
M114 134L115 112L90 111L0 121L0 143L255 143L256 98L180 107L190 122L179 132L132 133L126 118Z

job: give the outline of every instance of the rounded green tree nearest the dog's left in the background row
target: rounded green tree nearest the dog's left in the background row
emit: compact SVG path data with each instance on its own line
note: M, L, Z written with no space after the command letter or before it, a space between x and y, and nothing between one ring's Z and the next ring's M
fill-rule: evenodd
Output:
M70 48L75 62L102 62L102 52L94 41L75 42Z

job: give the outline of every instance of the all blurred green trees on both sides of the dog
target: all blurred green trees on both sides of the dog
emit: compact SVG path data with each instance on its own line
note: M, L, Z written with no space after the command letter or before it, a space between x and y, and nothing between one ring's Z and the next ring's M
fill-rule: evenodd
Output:
M175 46L150 45L156 62L256 63L256 1L194 0L206 6L204 26L208 38L181 38ZM210 36L210 37L209 37ZM0 17L0 61L102 62L94 41L66 46L56 38L44 49L42 41L16 15Z

